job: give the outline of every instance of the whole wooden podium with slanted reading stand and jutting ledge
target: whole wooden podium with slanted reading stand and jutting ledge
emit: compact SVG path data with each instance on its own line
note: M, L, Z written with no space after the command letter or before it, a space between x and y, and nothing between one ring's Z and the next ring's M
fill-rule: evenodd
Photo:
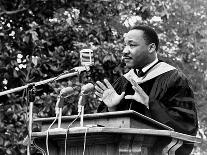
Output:
M86 114L83 127L79 118L68 129L76 117L63 116L61 129L56 123L49 132L54 118L35 119L41 131L32 133L33 145L45 155L174 155L183 141L201 142L131 110Z

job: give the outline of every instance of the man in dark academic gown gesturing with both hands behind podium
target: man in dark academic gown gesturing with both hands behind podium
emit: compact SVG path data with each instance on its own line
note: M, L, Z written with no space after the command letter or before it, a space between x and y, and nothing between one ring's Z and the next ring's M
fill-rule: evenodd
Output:
M158 60L159 39L148 26L135 26L124 35L123 59L128 73L113 85L96 82L95 94L103 101L98 112L134 110L172 127L196 135L196 103L186 76ZM184 143L176 155L187 155L193 145Z

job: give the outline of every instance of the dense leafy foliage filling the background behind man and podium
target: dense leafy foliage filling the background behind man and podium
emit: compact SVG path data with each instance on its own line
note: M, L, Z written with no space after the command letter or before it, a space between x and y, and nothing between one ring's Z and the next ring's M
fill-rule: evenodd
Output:
M206 154L206 10L205 0L0 0L0 90L70 71L79 66L81 49L93 49L95 66L89 72L37 87L34 118L54 116L62 88L104 78L113 82L122 75L123 34L134 24L148 24L159 34L159 56L192 82L203 138L194 154ZM63 115L77 113L78 95L77 90L65 99ZM0 154L26 154L27 99L26 90L0 96ZM98 105L91 95L85 113Z

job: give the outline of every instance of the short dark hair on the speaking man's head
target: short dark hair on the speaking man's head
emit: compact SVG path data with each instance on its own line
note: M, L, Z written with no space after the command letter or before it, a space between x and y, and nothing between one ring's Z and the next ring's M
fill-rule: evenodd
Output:
M159 38L156 33L156 31L146 25L136 25L131 28L131 30L142 30L144 32L144 39L148 44L154 43L156 46L156 51L158 50L159 47Z

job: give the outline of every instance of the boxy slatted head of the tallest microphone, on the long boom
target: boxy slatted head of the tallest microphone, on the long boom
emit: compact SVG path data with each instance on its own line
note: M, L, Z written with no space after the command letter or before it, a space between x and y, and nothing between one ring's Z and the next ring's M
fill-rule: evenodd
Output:
M94 65L93 51L91 49L82 49L80 51L80 62L81 62L81 66Z

